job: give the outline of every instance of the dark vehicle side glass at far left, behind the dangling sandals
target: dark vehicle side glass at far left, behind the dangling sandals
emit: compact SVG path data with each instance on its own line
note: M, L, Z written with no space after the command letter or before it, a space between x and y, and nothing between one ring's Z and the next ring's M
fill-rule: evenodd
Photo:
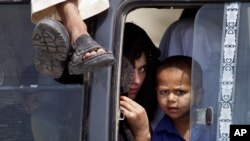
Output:
M30 6L0 5L0 21L0 140L80 140L82 86L34 68Z

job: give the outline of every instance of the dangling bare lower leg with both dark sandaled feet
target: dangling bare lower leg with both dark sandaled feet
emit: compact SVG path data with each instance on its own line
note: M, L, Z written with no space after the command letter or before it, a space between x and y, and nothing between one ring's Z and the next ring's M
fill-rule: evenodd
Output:
M56 5L62 24L51 18L43 18L34 28L34 62L40 73L60 78L66 67L70 75L77 75L114 63L113 54L90 37L87 26L78 12L77 2L67 0ZM52 40L54 42L51 42ZM70 42L74 44L69 46ZM73 47L75 52L72 53L70 47ZM86 53L86 50L89 51Z

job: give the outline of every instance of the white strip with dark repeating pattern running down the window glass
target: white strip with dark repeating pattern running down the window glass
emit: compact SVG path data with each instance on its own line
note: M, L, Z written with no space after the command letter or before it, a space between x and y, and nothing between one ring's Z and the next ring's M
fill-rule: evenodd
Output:
M221 65L221 88L219 94L219 140L229 141L229 127L232 124L232 108L234 103L235 73L237 62L238 34L240 4L230 3L225 5L225 21L223 25L223 55Z

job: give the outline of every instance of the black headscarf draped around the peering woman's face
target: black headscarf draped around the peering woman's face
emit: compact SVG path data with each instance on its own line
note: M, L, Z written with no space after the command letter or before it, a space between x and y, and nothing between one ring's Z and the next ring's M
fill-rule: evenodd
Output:
M147 111L149 120L153 120L157 108L157 97L155 91L155 71L159 64L160 51L155 47L147 33L133 23L125 24L123 55L135 65L142 53L146 55L147 70L146 78L135 99Z

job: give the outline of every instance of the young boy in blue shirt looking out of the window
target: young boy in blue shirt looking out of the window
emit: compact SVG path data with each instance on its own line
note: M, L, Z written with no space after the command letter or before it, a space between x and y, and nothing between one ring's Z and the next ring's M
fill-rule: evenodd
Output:
M202 71L199 65L193 81L195 100L191 101L192 58L172 56L165 59L156 72L157 99L165 116L156 126L152 141L189 141L190 105L203 95ZM196 68L195 68L196 69Z

